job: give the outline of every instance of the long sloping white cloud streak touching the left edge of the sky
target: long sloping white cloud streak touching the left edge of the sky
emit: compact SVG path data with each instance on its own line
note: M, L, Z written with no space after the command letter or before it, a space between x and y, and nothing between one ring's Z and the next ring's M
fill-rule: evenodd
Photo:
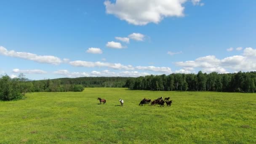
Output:
M8 51L3 46L0 46L0 54L5 56L17 57L21 59L28 59L40 63L48 63L48 64L60 64L61 59L56 56L38 56L34 53L27 53L27 52L16 52L16 51Z

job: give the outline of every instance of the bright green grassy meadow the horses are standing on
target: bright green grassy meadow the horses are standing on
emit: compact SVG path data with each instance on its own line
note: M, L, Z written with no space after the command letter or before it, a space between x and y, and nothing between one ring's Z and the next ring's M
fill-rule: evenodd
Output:
M139 106L160 96L172 106ZM256 143L255 93L85 88L25 97L0 101L0 144Z

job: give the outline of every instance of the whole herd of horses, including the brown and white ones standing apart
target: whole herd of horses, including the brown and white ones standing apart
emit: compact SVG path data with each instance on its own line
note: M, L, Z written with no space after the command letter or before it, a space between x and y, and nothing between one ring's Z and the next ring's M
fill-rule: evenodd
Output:
M144 105L145 106L145 104L150 104L151 103L152 106L155 106L156 104L158 104L160 107L164 107L165 103L166 103L167 107L171 107L171 104L172 104L173 101L170 100L170 99L171 99L170 96L168 98L165 98L165 99L163 99L163 96L161 96L161 97L155 99L154 101L151 101L151 99L144 98L144 99L141 100L139 105L141 105L141 106ZM99 104L101 104L102 102L103 102L103 104L106 103L106 99L98 98L98 100L99 100ZM120 104L121 104L120 106L123 107L123 99L119 99L119 101L120 101Z

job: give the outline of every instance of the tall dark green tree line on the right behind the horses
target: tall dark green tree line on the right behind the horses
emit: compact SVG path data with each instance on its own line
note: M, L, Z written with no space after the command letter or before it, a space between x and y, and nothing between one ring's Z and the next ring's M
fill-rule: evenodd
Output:
M256 72L237 72L228 74L209 74L199 71L197 74L148 75L126 80L125 87L131 90L151 91L256 91Z

